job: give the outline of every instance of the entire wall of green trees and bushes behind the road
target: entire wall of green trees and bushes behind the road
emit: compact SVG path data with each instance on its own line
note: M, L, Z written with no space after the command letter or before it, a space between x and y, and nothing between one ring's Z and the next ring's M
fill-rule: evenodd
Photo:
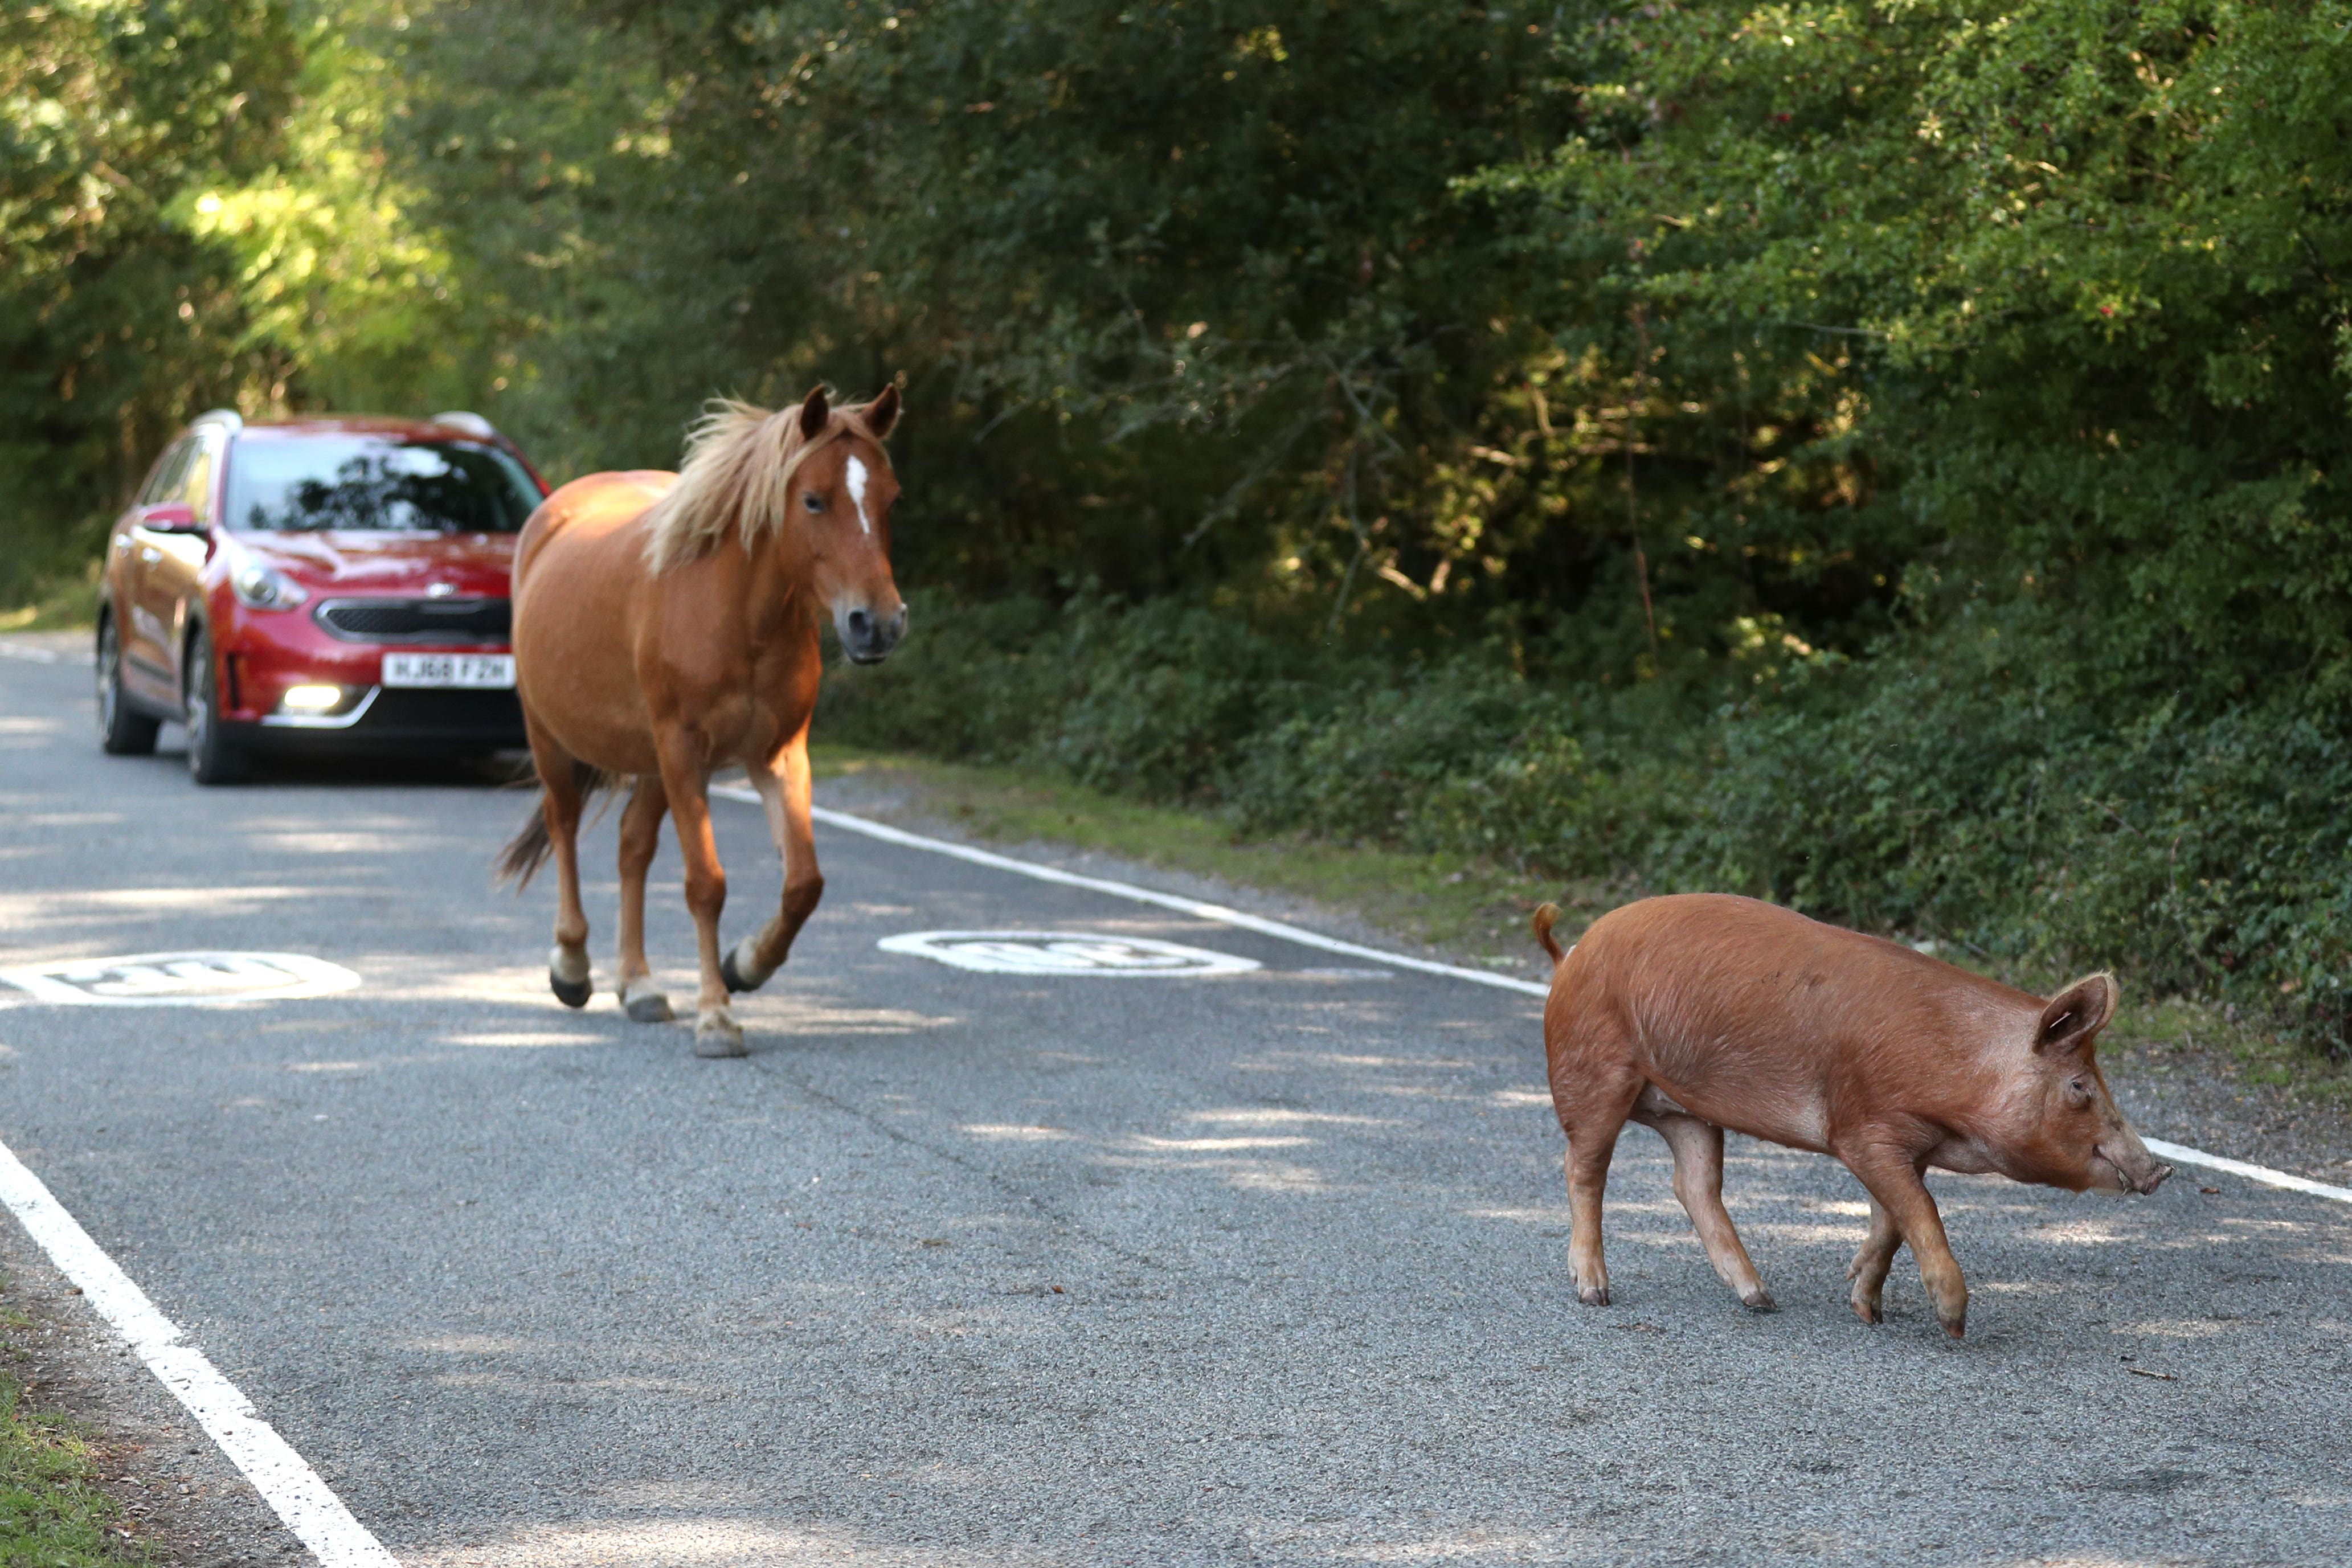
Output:
M82 0L0 597L183 414L908 374L835 738L2114 964L2343 1053L2352 5Z

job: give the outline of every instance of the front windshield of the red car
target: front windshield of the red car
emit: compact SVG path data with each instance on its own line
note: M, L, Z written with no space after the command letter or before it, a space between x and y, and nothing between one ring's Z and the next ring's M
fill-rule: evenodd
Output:
M513 534L539 487L487 442L390 435L242 440L228 461L228 527L268 534Z

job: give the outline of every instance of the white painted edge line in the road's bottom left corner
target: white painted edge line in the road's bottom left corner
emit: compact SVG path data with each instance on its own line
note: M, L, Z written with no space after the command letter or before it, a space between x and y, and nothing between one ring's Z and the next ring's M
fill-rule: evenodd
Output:
M320 1474L254 1413L254 1401L205 1352L181 1342L179 1324L155 1309L7 1145L0 1145L0 1201L325 1568L400 1568Z

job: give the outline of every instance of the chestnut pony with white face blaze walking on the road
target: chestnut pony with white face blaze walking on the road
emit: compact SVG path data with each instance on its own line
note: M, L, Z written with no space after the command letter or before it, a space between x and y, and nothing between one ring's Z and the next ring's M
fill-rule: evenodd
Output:
M873 665L906 632L889 571L898 501L882 437L898 388L833 409L826 388L771 414L713 402L680 473L597 473L548 496L515 548L515 684L541 809L499 856L529 884L555 856L560 905L548 985L586 1006L588 917L579 825L588 795L628 780L621 811L621 1006L666 1023L644 964L644 867L677 818L701 945L694 1053L743 1056L729 992L757 990L816 910L826 879L809 835L809 710L821 618ZM783 907L720 954L727 872L710 839L710 773L741 764L783 856Z

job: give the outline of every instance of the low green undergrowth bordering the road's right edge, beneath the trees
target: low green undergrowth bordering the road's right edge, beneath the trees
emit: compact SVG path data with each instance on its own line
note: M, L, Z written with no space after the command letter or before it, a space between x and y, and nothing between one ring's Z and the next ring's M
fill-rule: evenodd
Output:
M1531 682L1501 649L1367 679L1174 599L920 614L898 661L833 679L826 738L1054 769L1244 832L1752 893L2347 1044L2352 733L2300 691L2192 715L2020 611L1745 677L1736 703Z

